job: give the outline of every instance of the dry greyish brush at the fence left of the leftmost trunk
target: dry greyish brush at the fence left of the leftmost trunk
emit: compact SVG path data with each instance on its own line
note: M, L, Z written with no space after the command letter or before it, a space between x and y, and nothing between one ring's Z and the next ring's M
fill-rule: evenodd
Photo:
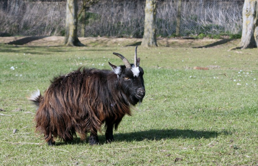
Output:
M60 35L65 3L10 0L0 10L0 31L11 35Z

